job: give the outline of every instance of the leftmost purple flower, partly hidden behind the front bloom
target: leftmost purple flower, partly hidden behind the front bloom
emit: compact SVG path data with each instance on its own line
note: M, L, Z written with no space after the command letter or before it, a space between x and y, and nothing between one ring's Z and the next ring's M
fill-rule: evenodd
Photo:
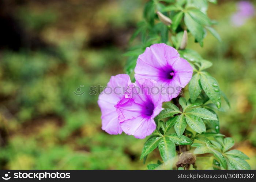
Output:
M121 134L123 130L117 119L115 105L125 95L124 88L131 84L129 75L120 74L112 76L108 86L99 95L98 105L101 108L102 130L109 134Z

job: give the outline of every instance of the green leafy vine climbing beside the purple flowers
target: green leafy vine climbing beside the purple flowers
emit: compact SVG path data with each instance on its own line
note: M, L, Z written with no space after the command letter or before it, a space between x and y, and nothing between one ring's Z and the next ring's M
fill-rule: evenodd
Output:
M158 147L165 165L169 169L175 169L172 165L176 156L176 145L179 158L182 155L181 146L185 145L182 148L190 153L193 151L193 154L212 154L213 169L251 169L245 161L249 159L245 154L238 150L228 151L234 145L234 140L224 138L225 135L219 133L216 110L222 109L221 96L227 104L229 100L220 90L217 80L206 71L212 63L203 59L196 51L185 49L188 39L186 31L201 47L207 30L221 41L217 31L211 27L213 21L207 16L207 8L207 0L150 0L145 5L144 21L138 24L138 29L131 38L133 40L139 36L141 43L132 46L125 54L129 56L125 72L133 74L136 58L146 47L155 43L166 43L180 49L181 57L189 61L194 74L188 86L190 98L186 100L180 97L176 105L166 103L167 107L155 118L158 128L144 144L140 158L144 158L145 162L147 155ZM175 133L169 132L171 128L174 128ZM193 149L194 147L196 148ZM185 169L189 169L190 164L185 163ZM155 169L160 165L150 164L148 169ZM180 167L177 163L176 166Z

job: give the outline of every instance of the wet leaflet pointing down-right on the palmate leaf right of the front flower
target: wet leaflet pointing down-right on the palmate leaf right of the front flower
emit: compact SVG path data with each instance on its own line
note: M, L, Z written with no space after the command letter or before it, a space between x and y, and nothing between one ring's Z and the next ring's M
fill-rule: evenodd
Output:
M192 128L192 130L196 131L197 133L202 133L206 131L206 127L201 118L195 115L186 114L186 121L188 125Z

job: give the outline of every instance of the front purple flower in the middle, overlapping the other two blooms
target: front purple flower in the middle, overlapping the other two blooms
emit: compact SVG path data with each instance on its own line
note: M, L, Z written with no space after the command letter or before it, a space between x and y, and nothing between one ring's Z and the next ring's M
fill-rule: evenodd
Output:
M130 89L133 97L123 97L116 105L118 119L126 134L142 139L156 128L154 118L162 110L161 94L155 94L157 83L151 79L136 80Z

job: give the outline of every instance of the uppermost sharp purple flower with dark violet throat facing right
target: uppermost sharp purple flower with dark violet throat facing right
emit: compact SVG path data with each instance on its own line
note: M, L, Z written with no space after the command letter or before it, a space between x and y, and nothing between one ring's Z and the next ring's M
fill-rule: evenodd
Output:
M180 58L177 50L166 44L154 44L139 55L135 67L136 79L153 79L161 89L162 100L175 98L193 74L187 60Z

